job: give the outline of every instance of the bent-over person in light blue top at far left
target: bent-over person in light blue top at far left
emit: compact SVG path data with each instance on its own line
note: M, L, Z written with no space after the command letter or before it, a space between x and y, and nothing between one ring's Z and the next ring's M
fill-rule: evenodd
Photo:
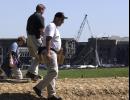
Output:
M4 59L4 62L1 66L1 69L4 71L5 75L8 78L22 79L23 75L20 70L21 62L19 60L19 49L18 47L26 43L26 38L24 36L18 37L17 41L12 43L8 48L7 55Z

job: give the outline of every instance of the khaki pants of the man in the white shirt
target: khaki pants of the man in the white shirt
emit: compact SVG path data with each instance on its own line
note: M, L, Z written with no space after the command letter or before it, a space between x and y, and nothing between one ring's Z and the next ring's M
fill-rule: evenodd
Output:
M36 87L39 90L44 90L47 87L48 97L56 94L56 78L58 76L58 64L57 64L57 54L51 51L51 61L47 64L47 75L42 81L40 81Z

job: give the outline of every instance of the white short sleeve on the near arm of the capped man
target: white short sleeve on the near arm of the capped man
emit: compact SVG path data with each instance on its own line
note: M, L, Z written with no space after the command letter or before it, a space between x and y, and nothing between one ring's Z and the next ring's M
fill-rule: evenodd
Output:
M55 34L56 27L52 24L48 25L45 30L46 36L53 37Z

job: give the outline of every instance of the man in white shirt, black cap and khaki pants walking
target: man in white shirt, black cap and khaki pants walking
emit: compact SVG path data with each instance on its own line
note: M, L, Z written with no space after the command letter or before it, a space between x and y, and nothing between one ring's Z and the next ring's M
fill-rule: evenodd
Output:
M53 22L46 27L43 36L45 38L42 53L46 54L48 72L33 89L39 97L43 97L42 90L47 87L48 100L62 100L61 97L56 96L55 81L58 76L57 52L61 49L61 37L57 27L64 23L64 19L67 19L64 13L56 13Z

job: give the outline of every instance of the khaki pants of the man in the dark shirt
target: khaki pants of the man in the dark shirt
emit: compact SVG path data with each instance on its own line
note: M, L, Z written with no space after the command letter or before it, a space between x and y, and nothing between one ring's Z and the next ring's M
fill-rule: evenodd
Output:
M29 67L28 71L32 74L38 75L38 47L42 44L41 39L36 39L34 35L28 35L27 38L27 46L29 48L29 52L32 56L31 66Z

